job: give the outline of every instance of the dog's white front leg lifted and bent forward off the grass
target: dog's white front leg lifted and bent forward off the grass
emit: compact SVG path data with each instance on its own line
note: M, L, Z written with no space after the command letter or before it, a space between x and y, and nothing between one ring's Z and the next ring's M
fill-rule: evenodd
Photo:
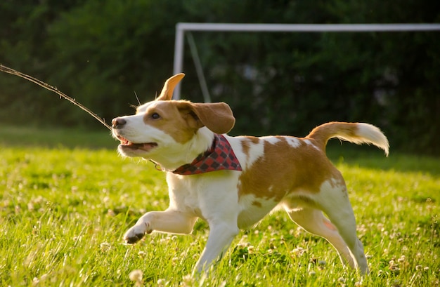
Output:
M124 241L136 243L146 234L153 231L190 234L197 218L181 211L150 211L139 218L136 225L124 234Z

